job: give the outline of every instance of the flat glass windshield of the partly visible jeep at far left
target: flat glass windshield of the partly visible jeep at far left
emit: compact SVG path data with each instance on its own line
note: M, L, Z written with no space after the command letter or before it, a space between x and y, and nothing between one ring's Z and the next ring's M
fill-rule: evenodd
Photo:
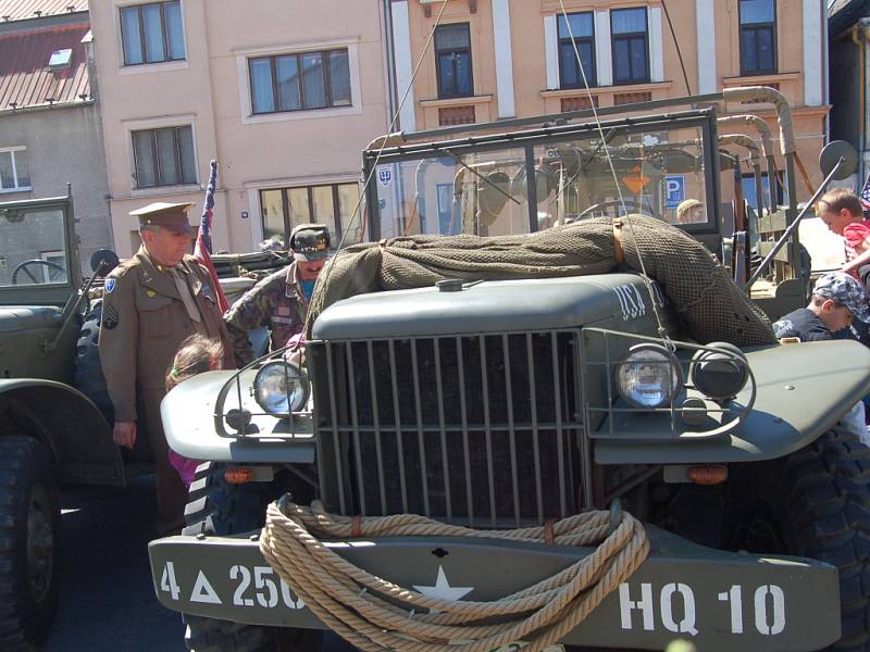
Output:
M0 287L69 281L61 209L0 209Z

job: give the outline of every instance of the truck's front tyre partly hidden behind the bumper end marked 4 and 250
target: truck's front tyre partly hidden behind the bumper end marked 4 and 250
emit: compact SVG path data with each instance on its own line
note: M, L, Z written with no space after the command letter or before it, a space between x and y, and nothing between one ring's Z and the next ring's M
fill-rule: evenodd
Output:
M216 462L197 467L182 534L235 535L263 527L271 500L269 486L231 485L224 469L225 465ZM192 652L319 652L322 647L322 632L313 629L261 627L188 614L184 614L184 640Z

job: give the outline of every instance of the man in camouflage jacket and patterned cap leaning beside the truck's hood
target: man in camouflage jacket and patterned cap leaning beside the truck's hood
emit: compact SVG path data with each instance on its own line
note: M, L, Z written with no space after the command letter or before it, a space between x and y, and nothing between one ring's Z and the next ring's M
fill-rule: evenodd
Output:
M245 292L224 316L238 366L254 359L249 330L269 327L273 351L302 331L314 281L330 254L330 230L322 224L301 224L293 229L289 243L295 261Z

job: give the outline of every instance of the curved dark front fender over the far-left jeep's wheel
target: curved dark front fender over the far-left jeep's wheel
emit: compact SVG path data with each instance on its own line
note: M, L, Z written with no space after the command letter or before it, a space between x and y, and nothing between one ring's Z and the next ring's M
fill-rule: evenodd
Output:
M124 486L124 464L105 417L69 385L0 379L0 415L1 434L25 431L48 443L61 482Z

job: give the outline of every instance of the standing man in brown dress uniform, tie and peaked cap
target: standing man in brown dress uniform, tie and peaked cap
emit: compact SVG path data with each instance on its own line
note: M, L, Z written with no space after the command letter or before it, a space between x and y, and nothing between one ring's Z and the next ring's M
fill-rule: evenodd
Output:
M132 449L137 432L147 431L161 534L183 525L187 502L160 419L166 372L182 340L195 333L220 340L227 351L224 366L234 366L209 273L189 255L191 205L157 202L130 213L139 220L142 246L105 279L100 328L100 360L115 412L112 438Z

